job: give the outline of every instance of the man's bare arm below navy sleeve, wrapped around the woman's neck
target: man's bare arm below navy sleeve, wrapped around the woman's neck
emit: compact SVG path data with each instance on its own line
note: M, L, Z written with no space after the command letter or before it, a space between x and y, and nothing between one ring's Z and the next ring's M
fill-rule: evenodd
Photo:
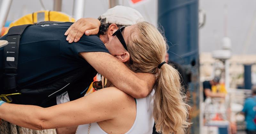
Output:
M155 83L154 75L148 73L136 74L108 53L85 52L81 53L81 55L118 89L130 94L134 98L146 97L153 88Z

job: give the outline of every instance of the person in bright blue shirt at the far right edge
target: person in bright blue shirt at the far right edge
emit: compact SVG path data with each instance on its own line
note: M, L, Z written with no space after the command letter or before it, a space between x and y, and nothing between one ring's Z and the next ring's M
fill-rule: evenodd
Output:
M247 133L256 133L256 124L253 121L256 116L256 86L252 88L252 97L245 100L242 112L245 115Z

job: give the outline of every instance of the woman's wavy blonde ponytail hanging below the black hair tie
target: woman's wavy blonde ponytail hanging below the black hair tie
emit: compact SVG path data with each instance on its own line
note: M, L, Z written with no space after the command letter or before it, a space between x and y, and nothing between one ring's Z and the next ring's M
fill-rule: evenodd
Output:
M189 123L188 105L181 93L180 76L171 65L164 64L159 72L154 95L153 116L156 131L160 133L184 134Z

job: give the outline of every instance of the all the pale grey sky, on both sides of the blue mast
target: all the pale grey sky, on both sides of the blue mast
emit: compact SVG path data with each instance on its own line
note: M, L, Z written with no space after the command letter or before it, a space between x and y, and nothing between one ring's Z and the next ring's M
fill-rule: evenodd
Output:
M3 0L0 1L1 4ZM47 10L53 10L53 0L42 2ZM72 15L73 2L62 0L62 12ZM120 0L119 4L137 9L146 21L157 25L156 0L144 0L136 4L130 0ZM84 17L98 18L107 9L108 0L85 0ZM256 54L256 0L199 0L199 9L206 14L206 23L199 29L200 53L221 49L222 38L228 36L232 54ZM39 10L43 10L39 0L13 0L7 20L16 20Z

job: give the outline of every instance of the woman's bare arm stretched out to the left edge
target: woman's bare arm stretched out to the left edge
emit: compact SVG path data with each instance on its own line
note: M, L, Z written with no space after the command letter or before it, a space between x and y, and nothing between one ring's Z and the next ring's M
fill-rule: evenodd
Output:
M4 103L0 106L0 119L35 130L100 122L114 119L125 105L120 102L124 102L127 96L115 87L110 87L48 108Z

